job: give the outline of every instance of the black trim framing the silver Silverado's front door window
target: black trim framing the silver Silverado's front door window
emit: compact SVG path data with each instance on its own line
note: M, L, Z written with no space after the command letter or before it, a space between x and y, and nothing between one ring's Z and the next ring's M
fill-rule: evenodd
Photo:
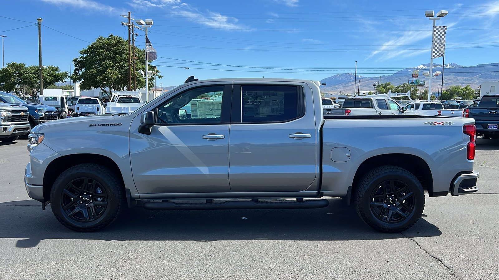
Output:
M161 107L162 105L168 103L170 100L174 99L175 97L185 93L185 92L188 92L190 90L193 90L193 89L197 89L197 88L205 88L205 87L217 87L217 86L223 86L224 87L224 91L222 93L222 109L221 109L221 112L220 112L220 122L218 123L196 123L196 124L157 124L156 121L155 121L155 124L154 126L204 126L204 125L230 125L230 117L231 117L231 103L232 103L232 87L233 85L232 84L218 84L218 85L200 85L199 87L192 87L192 88L188 88L184 91L181 91L179 92L178 94L168 98L167 100L165 100L164 102L160 103L158 106L156 106L153 110L154 112L154 117L156 118L156 116L158 115L158 109L159 107ZM227 96L227 98L226 98ZM225 114L223 114L224 112L226 112ZM224 121L224 122L223 122Z

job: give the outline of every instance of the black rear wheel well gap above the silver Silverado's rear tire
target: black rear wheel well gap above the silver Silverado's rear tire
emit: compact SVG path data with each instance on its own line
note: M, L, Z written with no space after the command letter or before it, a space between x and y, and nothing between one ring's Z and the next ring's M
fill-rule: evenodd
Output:
M357 185L365 173L384 165L398 166L411 172L418 178L423 188L428 190L429 196L433 196L433 175L430 166L423 158L406 153L380 154L364 160L355 172L351 193L355 193ZM353 195L350 199L353 202Z

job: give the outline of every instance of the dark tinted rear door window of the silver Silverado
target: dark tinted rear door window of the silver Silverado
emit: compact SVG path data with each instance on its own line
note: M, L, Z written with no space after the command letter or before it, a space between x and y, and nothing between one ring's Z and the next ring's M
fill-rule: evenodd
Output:
M299 86L242 85L243 123L287 122L304 114Z

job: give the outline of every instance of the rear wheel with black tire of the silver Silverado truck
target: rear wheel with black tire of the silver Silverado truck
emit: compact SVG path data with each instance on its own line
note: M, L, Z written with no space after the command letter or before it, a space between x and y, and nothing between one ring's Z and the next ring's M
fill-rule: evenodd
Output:
M401 232L421 217L425 193L411 172L398 166L380 166L360 180L355 204L360 218L373 229Z

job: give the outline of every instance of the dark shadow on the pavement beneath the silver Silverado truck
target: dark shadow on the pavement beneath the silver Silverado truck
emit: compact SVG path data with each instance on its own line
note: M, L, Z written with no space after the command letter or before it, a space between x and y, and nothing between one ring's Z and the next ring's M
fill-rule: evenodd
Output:
M442 232L424 218L403 234L377 232L357 216L355 207L329 199L326 208L307 210L190 210L125 209L107 228L90 233L71 231L57 222L47 207L32 200L0 203L0 238L19 239L16 247L36 247L46 239L105 241L219 240L384 240L433 237ZM28 204L29 202L29 204ZM425 217L426 215L423 215Z

